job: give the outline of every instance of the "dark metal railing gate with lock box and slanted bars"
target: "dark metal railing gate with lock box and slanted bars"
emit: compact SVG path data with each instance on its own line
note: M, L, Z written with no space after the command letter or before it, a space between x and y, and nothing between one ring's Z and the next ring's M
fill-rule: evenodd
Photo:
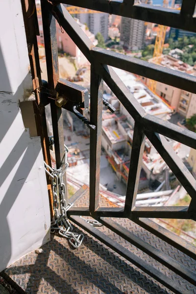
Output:
M57 168L60 167L64 156L62 110L54 103L57 93L58 97L66 98L67 103L65 108L69 110L72 109L73 104L81 105L81 103L83 103L82 105L84 106L84 109L88 109L89 98L88 93L84 88L59 79L56 21L67 32L76 46L91 63L90 123L95 126L90 129L90 205L89 207L82 208L72 207L68 212L69 218L80 227L90 232L93 236L96 236L98 240L150 274L174 293L187 293L186 289L177 285L170 278L142 261L139 257L134 256L127 249L123 249L121 245L111 242L109 237L103 235L98 229L92 227L78 216L91 216L100 221L125 240L136 245L151 257L155 258L157 261L161 262L196 286L195 273L181 266L170 256L166 256L163 252L160 252L158 249L135 237L116 222L109 219L128 218L185 254L196 259L195 246L172 234L157 223L147 219L170 218L190 219L196 221L196 180L180 161L179 157L164 137L167 136L184 145L196 148L196 134L167 121L162 121L161 119L148 115L140 103L123 84L119 76L113 71L111 66L150 79L155 79L195 94L196 77L187 73L173 71L159 65L150 64L120 53L94 47L92 42L76 24L73 17L65 9L63 4L59 4L58 2L59 1L57 0L41 1L48 72L47 98L48 96L51 98L50 104ZM61 2L196 32L196 18L194 17L196 0L183 0L180 11L142 3L134 5L133 0L61 0ZM103 81L105 81L135 121L124 208L99 207ZM179 182L186 189L187 193L191 196L192 200L189 207L135 206L146 137L162 156Z

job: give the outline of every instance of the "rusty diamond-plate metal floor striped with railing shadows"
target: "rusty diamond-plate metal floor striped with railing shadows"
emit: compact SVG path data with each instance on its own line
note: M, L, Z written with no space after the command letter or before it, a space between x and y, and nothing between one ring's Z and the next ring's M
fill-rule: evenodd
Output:
M83 190L84 191L84 190ZM101 206L115 206L100 196ZM88 205L88 191L78 200L78 206ZM163 242L132 221L115 219L132 233L149 244L161 249L192 271L196 261ZM196 294L196 287L187 283L135 246L106 227L100 227L106 235L129 248L142 259L187 289L187 294ZM78 231L82 231L76 228ZM27 294L167 294L172 293L142 270L133 266L119 254L101 244L88 233L77 249L72 249L66 239L52 237L42 246L44 252L31 252L5 270ZM22 293L24 293L22 291Z

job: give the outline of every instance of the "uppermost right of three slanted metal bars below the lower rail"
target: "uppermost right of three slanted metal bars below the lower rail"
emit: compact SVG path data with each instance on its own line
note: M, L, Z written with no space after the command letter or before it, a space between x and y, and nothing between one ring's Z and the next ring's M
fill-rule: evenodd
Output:
M158 238L164 240L168 244L172 245L173 247L177 248L178 250L196 260L196 246L192 245L191 243L162 227L158 223L149 219L140 218L133 221L157 236Z

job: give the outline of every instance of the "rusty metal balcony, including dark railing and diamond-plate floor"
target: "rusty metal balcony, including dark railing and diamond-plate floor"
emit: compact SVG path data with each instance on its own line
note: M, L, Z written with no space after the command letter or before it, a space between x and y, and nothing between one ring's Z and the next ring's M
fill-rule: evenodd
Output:
M22 1L23 13L34 93L37 104L41 103L39 114L42 113L42 116L38 116L41 122L37 125L46 162L50 208L54 210L51 217L55 218L56 211L58 215L62 203L72 203L62 210L64 216L67 216L67 223L72 223L75 235L68 237L64 234L66 229L63 225L59 226L58 218L52 226L56 234L52 234L50 242L43 245L43 252L26 254L3 272L4 278L27 294L196 294L196 246L153 220L162 218L196 221L196 179L166 139L167 137L196 148L196 134L147 114L112 67L156 79L195 94L196 78L96 48L63 4L57 0L42 0L48 83L41 82L40 72L36 71L39 69L36 16L34 13L29 14L26 2ZM144 3L134 4L133 0L61 2L196 32L196 18L193 17L196 0L189 0L189 5L183 0L180 11ZM29 0L29 3L34 2ZM91 64L90 108L87 89L59 79L56 21ZM134 120L127 189L124 200L120 198L123 203L121 207L103 197L99 185L103 103L111 109L111 105L103 101L103 81ZM54 184L55 176L52 178L49 169L51 158L44 124L46 118L43 109L46 105L51 108L57 171L62 171L62 164L65 165L67 156L64 148L62 108L72 111L80 118L81 123L90 128L90 185L82 186L69 200L66 190L62 189L61 193L58 189L54 191L57 184ZM113 130L112 133L119 139L117 133L116 135ZM190 195L191 202L188 206L136 206L146 138ZM149 149L150 146L146 144L146 148ZM66 172L62 178L66 183ZM56 194L59 197L59 207ZM60 221L62 220L61 215ZM62 238L62 235L67 239ZM79 247L76 246L78 243L81 243ZM73 249L74 245L77 248Z

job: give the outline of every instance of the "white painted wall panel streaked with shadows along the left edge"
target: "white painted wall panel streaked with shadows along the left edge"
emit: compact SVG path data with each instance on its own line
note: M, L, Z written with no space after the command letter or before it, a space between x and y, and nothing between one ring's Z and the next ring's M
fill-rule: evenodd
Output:
M32 92L20 0L0 10L0 271L49 241L49 197L39 137L19 100ZM28 102L27 102L28 103Z

